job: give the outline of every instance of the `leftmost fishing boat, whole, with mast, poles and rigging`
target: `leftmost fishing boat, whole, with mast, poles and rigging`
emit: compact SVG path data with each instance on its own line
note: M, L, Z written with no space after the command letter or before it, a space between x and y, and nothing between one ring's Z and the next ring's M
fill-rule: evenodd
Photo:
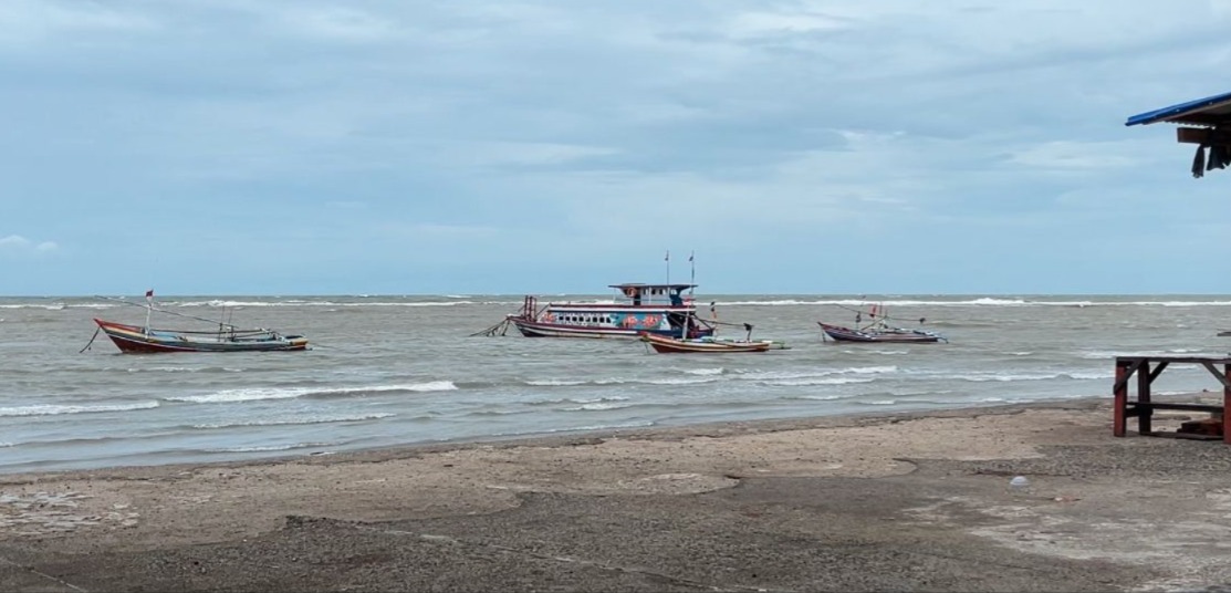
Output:
M113 300L142 306L122 299ZM308 349L308 338L304 336L283 335L263 327L240 328L223 321L155 309L154 290L145 292L144 308L145 325L142 326L95 317L94 322L98 326L95 331L95 337L101 331L114 342L121 352L132 354L155 352L276 352ZM206 321L215 327L211 330L155 328L150 325L150 316L155 311ZM90 338L90 343L94 343L94 337ZM81 352L85 352L89 347L90 344L87 343L85 348L81 348Z

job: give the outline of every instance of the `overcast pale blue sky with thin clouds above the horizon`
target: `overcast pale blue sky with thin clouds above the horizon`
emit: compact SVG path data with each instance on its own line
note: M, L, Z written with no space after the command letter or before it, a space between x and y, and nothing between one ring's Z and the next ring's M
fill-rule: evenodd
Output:
M4 0L0 294L1231 293L1231 0ZM670 250L671 261L665 262Z

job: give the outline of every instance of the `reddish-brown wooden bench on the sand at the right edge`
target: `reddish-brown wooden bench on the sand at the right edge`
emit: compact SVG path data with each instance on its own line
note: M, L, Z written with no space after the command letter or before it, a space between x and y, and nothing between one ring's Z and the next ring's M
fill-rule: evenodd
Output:
M1171 364L1199 364L1219 380L1222 385L1222 405L1211 404L1179 404L1152 401L1150 399L1150 384ZM1137 376L1137 399L1129 400L1129 380ZM1112 433L1124 437L1128 432L1129 417L1137 417L1137 433L1157 436L1151 427L1155 410L1187 410L1194 412L1210 412L1211 421L1220 424L1222 442L1231 444L1231 431L1226 428L1226 416L1224 411L1231 407L1231 357L1117 357L1115 358L1115 386L1112 389L1115 396L1114 422Z

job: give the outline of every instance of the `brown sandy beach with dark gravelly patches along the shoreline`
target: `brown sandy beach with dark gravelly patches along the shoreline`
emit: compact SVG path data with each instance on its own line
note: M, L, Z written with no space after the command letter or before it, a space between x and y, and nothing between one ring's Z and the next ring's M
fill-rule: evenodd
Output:
M4 475L0 591L1221 591L1231 448L1109 400Z

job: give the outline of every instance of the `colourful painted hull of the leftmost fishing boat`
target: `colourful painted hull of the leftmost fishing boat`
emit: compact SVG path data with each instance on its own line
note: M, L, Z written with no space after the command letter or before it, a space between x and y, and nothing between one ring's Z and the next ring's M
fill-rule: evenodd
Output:
M98 328L119 348L130 354L158 352L277 352L308 349L308 338L283 336L268 330L202 332L149 330L95 319Z

